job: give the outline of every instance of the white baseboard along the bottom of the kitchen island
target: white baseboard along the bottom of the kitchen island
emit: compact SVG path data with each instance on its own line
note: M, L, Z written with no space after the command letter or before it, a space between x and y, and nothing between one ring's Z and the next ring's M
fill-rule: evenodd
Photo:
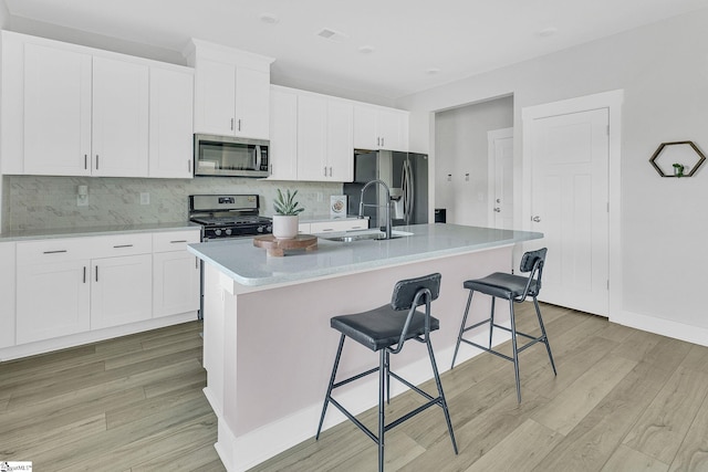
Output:
M511 338L511 335L502 329L497 329L494 333L494 346ZM468 339L482 346L489 342L487 333L468 337ZM454 353L455 346L435 353L436 364L440 374L450 369ZM482 350L480 349L461 344L456 365L460 365L481 353ZM395 368L394 356L392 357L392 365L396 374L414 385L420 385L433 378L433 370L427 356L399 369ZM323 386L322 401L324 401L325 389L326 386ZM393 398L406 390L407 387L398 381L393 381L391 396ZM445 384L442 384L442 390L445 390ZM356 416L377 405L377 392L378 377L372 375L369 378L357 381L353 388L336 396L336 398L352 415ZM209 398L208 387L205 389L205 395ZM321 413L322 402L317 402L237 438L220 413L217 412L217 417L219 417L219 440L215 448L227 471L246 471L302 441L313 438L317 431ZM346 417L336 407L330 405L322 430L326 431L345 420Z

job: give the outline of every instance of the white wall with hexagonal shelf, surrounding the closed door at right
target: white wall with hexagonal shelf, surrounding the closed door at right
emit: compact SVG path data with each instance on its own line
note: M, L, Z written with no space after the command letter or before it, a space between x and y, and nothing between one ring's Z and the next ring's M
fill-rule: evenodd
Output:
M708 10L693 12L398 102L415 112L418 130L429 130L416 145L433 150L430 112L513 94L520 166L523 107L624 90L622 164L611 169L622 182L621 261L612 263L621 265L623 293L611 319L702 344L708 166L693 178L663 179L648 159L663 141L693 140L708 151L707 23Z

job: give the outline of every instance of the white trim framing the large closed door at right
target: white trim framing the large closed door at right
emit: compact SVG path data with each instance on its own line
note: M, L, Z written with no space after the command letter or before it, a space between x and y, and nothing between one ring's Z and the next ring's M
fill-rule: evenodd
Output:
M622 228L621 228L621 197L622 197L622 179L621 179L621 155L622 155L622 104L624 102L624 90L603 92L593 95L585 95L575 98L552 102L542 105L528 106L521 109L522 119L522 167L521 167L521 221L522 229L531 228L531 134L530 123L534 119L548 118L550 116L565 115L570 113L587 112L591 109L607 108L610 118L610 176L608 176L608 315L610 318L614 314L622 311Z

